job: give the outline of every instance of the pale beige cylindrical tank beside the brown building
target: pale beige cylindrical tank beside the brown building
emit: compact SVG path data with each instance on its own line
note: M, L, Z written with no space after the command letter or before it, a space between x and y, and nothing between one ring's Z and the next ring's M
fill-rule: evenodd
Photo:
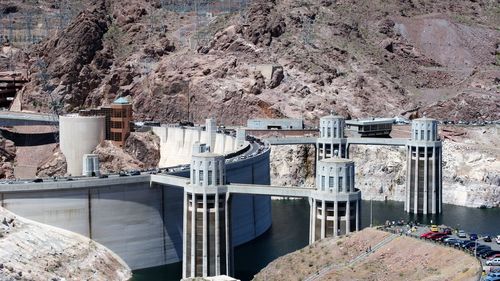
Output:
M104 140L104 116L66 115L59 117L59 143L66 157L67 173L80 175L83 155L90 154Z

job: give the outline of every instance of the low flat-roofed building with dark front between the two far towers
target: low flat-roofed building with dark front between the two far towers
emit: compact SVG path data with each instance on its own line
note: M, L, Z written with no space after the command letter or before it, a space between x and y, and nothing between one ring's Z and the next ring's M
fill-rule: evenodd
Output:
M359 137L388 137L392 131L393 118L371 118L346 120L346 129Z

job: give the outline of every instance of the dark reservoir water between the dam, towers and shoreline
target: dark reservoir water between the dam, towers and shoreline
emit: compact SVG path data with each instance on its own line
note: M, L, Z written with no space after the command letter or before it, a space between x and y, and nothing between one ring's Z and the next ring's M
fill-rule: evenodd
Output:
M259 238L235 249L236 278L251 280L263 267L274 259L298 250L309 240L309 204L307 200L276 200L272 202L273 225ZM474 209L443 205L440 216L410 215L403 211L403 202L373 202L373 224L386 220L417 220L420 223L445 224L480 234L500 234L500 209ZM362 227L370 225L370 201L361 207ZM178 281L182 264L134 271L132 281Z

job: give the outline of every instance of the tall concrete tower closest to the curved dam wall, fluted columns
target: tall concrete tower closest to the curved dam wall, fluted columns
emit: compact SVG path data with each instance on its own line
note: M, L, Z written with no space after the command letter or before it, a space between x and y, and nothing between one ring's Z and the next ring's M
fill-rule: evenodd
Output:
M224 156L195 154L184 189L182 277L231 274L229 198Z

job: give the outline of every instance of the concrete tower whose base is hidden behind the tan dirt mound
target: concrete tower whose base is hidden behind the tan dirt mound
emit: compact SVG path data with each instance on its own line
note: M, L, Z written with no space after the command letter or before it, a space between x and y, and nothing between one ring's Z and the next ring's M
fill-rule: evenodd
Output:
M358 231L361 192L354 185L354 162L338 157L317 162L312 192L309 242Z

